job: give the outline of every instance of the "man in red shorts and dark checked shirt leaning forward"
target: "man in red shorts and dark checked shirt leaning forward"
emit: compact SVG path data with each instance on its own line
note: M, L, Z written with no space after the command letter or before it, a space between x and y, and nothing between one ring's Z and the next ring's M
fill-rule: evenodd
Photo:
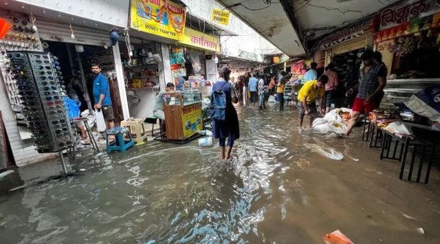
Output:
M360 71L360 83L347 91L347 96L351 96L356 90L358 94L353 102L353 111L345 135L350 135L360 113L364 112L368 116L373 109L379 107L379 97L386 85L386 69L381 69L380 65L375 64L373 51L366 50L361 59L364 62L364 68Z

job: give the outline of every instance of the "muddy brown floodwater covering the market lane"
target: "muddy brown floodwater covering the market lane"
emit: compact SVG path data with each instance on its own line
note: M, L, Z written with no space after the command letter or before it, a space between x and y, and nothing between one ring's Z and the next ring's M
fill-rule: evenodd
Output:
M0 242L322 243L340 230L354 243L440 243L438 168L429 184L402 181L362 128L350 138L300 134L297 110L237 110L231 162L216 146L148 142L83 157L72 164L82 175L63 180L35 184L39 167L57 164L19 168L26 186L0 195Z

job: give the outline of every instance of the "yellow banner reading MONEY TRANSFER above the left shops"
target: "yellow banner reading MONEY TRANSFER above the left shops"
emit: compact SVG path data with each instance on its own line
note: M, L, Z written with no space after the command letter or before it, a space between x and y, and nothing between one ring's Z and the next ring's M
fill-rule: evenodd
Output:
M132 0L131 27L141 32L181 41L186 10L169 0Z

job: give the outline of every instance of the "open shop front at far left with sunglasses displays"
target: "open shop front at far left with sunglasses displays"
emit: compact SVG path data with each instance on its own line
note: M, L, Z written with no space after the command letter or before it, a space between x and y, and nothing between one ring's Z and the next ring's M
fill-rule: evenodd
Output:
M29 12L30 8L17 10ZM90 63L104 65L116 120L124 118L114 58L119 51L109 43L109 32L54 21L45 16L45 10L43 16L13 10L1 13L11 25L0 42L7 54L0 60L1 110L17 166L55 157L54 153L76 143L76 129L67 122L63 99L79 99L82 111L91 109Z

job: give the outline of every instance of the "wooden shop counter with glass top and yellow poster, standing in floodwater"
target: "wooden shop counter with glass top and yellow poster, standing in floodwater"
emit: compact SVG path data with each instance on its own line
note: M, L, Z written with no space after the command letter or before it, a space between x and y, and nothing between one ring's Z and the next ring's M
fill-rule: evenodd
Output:
M183 141L201 131L203 121L200 91L164 94L162 98L168 140Z

